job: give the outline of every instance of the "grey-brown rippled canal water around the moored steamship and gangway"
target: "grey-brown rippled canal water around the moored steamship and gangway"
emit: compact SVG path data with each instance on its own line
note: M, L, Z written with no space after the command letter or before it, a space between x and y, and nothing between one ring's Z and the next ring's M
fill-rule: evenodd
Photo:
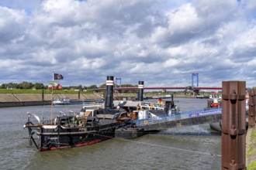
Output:
M206 99L175 99L181 110L206 107ZM79 112L81 105L54 107ZM29 146L26 113L50 117L50 106L0 108L0 169L221 169L221 135L209 124L169 128L133 140L40 152Z

